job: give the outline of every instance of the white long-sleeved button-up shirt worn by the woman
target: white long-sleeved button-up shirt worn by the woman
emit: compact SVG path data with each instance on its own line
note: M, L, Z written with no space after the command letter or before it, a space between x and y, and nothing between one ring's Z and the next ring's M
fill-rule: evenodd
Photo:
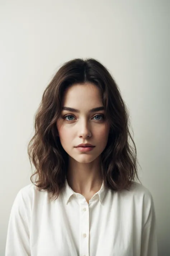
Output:
M156 218L150 191L133 182L130 191L102 184L87 203L66 180L50 202L29 184L11 208L5 256L157 256Z

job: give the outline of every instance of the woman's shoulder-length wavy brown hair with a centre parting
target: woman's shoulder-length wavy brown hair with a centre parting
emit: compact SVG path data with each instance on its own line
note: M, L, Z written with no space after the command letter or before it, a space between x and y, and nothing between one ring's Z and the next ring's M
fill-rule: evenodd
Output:
M93 58L76 58L64 63L45 89L35 114L35 134L28 144L29 161L36 167L30 180L33 183L36 175L34 184L38 190L48 191L51 199L56 199L65 186L69 158L62 148L56 122L61 116L66 88L76 83L93 83L99 88L105 118L110 123L108 142L101 153L104 185L112 190L128 190L135 177L139 180L129 112L108 69Z

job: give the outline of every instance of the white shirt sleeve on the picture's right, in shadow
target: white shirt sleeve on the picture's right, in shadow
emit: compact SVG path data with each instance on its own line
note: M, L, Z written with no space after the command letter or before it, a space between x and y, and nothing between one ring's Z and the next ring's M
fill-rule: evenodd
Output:
M158 256L155 207L150 192L145 207L146 221L142 228L141 256Z

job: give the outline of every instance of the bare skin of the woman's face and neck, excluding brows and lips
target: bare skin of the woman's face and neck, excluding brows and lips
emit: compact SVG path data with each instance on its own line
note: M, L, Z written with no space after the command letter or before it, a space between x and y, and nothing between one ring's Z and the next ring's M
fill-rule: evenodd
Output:
M75 108L80 112L63 110L57 120L61 145L69 155L67 181L88 202L102 184L100 155L107 145L110 129L109 123L102 116L105 114L104 110L89 112L90 109L101 106L102 98L96 85L74 84L65 91L63 107ZM67 114L71 116L64 119ZM75 148L80 143L90 143L95 148L82 153Z

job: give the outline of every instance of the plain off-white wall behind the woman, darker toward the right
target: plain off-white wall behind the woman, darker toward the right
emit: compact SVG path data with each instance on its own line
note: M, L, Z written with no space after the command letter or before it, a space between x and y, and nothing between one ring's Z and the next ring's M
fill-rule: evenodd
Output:
M170 255L170 1L0 0L0 255L10 209L30 183L34 113L57 69L93 57L118 83L152 193L159 255Z

